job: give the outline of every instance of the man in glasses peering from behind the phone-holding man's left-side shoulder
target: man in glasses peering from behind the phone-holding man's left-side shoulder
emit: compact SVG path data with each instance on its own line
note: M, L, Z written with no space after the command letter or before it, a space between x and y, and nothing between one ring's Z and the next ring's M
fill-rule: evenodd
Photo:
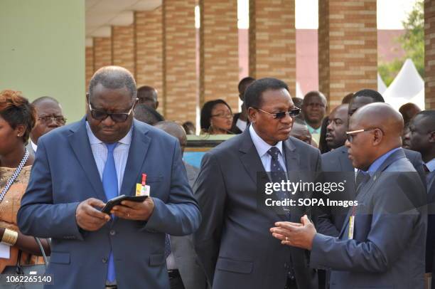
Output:
M32 105L36 110L36 124L30 135L30 142L27 144L28 152L35 154L38 149L38 140L47 132L57 127L62 127L66 123L63 116L62 107L55 98L43 96L33 100Z

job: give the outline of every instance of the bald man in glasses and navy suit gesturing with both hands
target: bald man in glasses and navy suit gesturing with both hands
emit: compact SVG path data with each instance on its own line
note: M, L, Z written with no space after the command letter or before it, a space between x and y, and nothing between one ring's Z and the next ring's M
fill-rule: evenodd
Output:
M401 148L402 115L373 103L355 112L349 130L349 158L363 177L338 238L317 233L306 216L276 223L272 235L311 250L311 267L332 270L331 289L424 288L426 193Z

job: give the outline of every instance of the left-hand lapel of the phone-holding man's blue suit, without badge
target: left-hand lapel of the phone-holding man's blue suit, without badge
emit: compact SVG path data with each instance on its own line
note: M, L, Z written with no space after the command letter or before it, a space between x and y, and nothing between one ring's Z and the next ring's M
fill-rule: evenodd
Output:
M92 149L90 147L89 137L87 137L85 118L80 122L77 122L75 127L71 127L71 131L73 133L68 136L68 141L73 148L75 157L82 166L82 169L85 171L86 177L89 179L89 182L98 198L107 202L97 164L95 164L94 154L92 154Z

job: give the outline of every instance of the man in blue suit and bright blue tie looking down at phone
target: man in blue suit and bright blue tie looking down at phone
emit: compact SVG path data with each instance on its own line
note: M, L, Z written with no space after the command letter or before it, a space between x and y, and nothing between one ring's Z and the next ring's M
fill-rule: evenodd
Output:
M18 211L22 233L52 238L55 288L169 288L166 236L193 233L198 204L175 137L133 119L136 83L107 66L90 80L87 113L41 137ZM134 196L146 174L150 197Z

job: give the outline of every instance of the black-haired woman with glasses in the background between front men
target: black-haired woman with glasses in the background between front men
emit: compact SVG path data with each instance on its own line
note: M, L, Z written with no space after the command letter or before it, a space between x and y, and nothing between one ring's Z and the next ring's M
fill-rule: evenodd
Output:
M210 100L201 109L201 132L210 135L231 134L232 111L224 100Z

